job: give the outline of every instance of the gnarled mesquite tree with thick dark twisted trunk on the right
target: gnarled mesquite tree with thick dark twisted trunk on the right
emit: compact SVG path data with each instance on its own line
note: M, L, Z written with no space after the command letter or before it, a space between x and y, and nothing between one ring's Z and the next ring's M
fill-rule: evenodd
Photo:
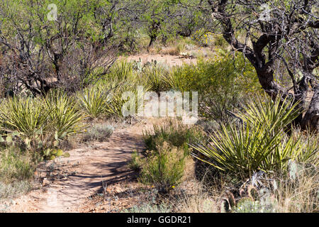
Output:
M318 131L318 1L207 3L225 40L254 66L264 91L273 99L282 95L298 101L303 111L296 123ZM285 83L287 78L290 83Z

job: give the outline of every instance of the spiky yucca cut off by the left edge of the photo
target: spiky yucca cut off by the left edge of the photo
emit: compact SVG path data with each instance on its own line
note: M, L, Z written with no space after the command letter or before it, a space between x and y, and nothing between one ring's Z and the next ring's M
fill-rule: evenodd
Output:
M40 99L18 96L4 99L0 109L1 130L17 132L26 138L33 138L39 131L45 131L51 109Z

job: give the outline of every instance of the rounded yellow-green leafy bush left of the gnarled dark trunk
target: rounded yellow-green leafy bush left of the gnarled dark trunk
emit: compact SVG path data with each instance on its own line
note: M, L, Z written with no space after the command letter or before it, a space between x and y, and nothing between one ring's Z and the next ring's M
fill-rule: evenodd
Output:
M198 92L199 114L218 123L226 123L226 111L233 111L250 94L259 91L256 73L245 58L222 50L197 65L175 67L167 83L181 92Z

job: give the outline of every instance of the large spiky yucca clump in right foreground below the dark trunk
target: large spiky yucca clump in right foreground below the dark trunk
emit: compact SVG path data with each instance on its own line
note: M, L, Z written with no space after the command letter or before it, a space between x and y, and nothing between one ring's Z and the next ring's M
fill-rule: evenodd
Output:
M288 160L300 157L305 150L300 135L284 132L299 114L296 106L280 97L252 101L245 112L238 114L243 120L240 126L222 125L210 135L210 144L191 145L198 152L193 155L236 175L247 176L257 170L285 171Z

